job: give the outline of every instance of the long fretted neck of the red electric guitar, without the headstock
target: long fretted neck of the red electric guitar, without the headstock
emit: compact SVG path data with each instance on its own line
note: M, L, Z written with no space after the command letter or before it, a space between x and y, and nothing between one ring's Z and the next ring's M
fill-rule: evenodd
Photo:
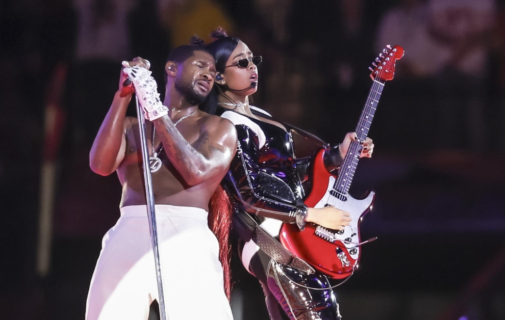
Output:
M360 120L356 126L356 134L359 141L365 141L368 136L368 130L372 124L373 116L375 115L375 110L377 109L377 104L381 98L382 89L384 88L384 83L380 81L373 81L370 92L368 93L368 98L366 99L365 106L361 112ZM344 157L344 161L340 166L339 175L333 189L341 194L346 194L349 192L350 184L358 162L360 161L360 149L361 144L356 141L352 141L349 145L349 149Z

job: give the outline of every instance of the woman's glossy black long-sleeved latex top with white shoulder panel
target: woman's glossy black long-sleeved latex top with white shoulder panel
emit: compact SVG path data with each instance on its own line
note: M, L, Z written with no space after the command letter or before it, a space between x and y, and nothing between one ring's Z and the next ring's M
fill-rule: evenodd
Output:
M217 115L221 116L225 111L219 108ZM268 118L265 114L261 116ZM263 218L274 218L295 223L296 210L307 207L302 201L305 194L301 180L304 180L308 164L307 159L296 159L294 155L291 131L295 128L286 125L289 130L286 132L277 125L248 119L259 125L266 138L265 143L260 148L259 137L252 128L245 124L235 125L237 154L225 179L226 189L260 222ZM299 130L297 133L309 135ZM308 138L320 148L329 150L324 159L328 170L340 166L342 159L338 148L330 148L313 136Z

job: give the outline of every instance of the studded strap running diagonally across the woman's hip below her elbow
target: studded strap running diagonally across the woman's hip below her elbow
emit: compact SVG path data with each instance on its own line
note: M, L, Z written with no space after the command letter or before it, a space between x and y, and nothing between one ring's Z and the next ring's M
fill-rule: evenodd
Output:
M295 257L291 252L284 248L279 241L263 230L258 222L247 212L243 210L236 210L234 214L234 227L238 227L241 231L245 231L239 232L243 235L241 236L243 241L249 241L249 239L252 239L261 250L278 263L300 270L309 275L315 273L312 266L304 260ZM237 224L239 224L239 226L237 226ZM250 238L247 239L247 235L250 235Z

